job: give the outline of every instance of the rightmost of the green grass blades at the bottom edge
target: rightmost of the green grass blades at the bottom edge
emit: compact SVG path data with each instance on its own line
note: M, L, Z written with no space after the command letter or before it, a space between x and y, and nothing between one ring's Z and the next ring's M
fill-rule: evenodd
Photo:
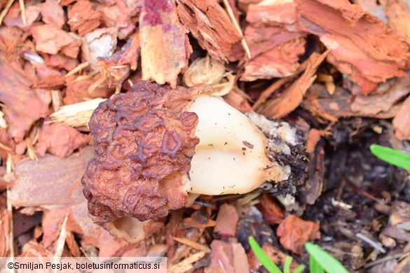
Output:
M328 273L348 273L348 270L343 267L339 260L336 260L332 255L322 250L322 248L320 248L319 246L312 243L306 243L305 248L310 255L310 272L314 272L312 271L311 265L312 261L314 260L314 264L320 265L320 267L322 267L322 269L324 269Z

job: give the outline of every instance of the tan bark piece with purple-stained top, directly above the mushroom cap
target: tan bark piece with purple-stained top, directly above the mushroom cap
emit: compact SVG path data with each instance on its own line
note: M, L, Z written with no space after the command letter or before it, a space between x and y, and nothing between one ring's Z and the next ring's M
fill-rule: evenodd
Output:
M142 79L177 86L177 76L188 67L192 48L179 23L174 0L146 0L139 19Z

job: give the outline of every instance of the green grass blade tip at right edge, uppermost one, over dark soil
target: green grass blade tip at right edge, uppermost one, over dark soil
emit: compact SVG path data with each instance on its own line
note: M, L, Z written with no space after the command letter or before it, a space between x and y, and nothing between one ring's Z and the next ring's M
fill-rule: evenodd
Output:
M370 151L376 155L376 157L391 165L410 170L410 153L403 153L377 144L372 144L370 146Z

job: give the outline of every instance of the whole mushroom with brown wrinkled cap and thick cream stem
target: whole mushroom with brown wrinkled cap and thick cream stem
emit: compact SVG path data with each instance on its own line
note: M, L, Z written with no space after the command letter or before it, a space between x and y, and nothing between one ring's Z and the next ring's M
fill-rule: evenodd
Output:
M97 107L89 123L95 157L81 180L95 223L138 241L189 195L275 191L280 181L294 193L305 165L296 129L245 116L206 89L141 81Z

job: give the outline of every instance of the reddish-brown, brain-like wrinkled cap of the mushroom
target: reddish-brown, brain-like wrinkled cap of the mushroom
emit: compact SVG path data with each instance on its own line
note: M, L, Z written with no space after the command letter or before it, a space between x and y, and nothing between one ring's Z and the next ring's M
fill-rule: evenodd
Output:
M185 206L183 187L199 139L198 116L184 107L201 90L142 81L95 109L89 123L95 156L81 180L95 223L156 220Z

